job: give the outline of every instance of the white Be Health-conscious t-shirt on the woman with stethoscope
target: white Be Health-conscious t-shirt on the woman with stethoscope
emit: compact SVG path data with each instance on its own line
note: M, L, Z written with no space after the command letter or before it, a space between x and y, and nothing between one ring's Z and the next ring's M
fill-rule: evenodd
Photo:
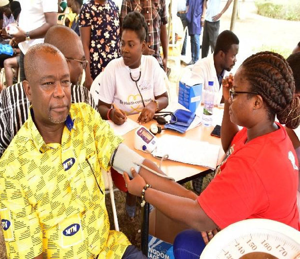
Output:
M154 96L166 92L162 74L164 71L153 56L142 55L141 66L130 70L134 80L141 72L137 86L145 106L154 99ZM135 82L130 78L130 70L124 64L122 57L111 60L102 72L103 75L99 81L99 100L114 103L127 114L134 114L144 107Z

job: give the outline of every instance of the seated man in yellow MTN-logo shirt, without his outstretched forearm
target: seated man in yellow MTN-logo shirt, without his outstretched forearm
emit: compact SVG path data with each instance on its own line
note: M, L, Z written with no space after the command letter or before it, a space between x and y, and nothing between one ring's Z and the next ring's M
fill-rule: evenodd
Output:
M49 44L25 55L28 120L0 159L8 258L146 258L110 231L101 168L122 139L85 103L70 103L68 66Z

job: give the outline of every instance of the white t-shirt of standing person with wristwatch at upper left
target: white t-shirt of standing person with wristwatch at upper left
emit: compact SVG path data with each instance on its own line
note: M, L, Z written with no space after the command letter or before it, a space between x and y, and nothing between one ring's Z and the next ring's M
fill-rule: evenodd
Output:
M19 0L21 12L19 15L19 27L24 31L30 31L43 25L46 20L44 12L57 12L57 0ZM25 54L28 48L37 43L42 43L43 38L25 40L18 44Z

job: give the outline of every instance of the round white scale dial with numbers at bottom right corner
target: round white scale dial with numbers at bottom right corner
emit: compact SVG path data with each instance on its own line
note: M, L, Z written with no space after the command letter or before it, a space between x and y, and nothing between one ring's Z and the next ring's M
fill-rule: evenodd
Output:
M300 259L300 232L266 219L240 221L217 233L200 259Z

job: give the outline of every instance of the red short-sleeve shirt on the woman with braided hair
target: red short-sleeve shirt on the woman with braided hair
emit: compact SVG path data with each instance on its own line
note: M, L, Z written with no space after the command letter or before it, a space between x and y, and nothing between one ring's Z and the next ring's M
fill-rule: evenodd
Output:
M220 228L253 218L270 219L299 230L296 192L298 160L285 129L249 142L245 128L232 140L219 174L198 197Z

